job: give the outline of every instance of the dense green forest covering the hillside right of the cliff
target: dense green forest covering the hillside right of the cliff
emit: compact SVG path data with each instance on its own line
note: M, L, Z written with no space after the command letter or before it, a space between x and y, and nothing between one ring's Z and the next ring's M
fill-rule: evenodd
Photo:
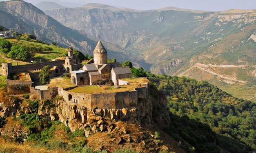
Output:
M147 72L167 95L173 125L168 133L188 152L243 153L256 149L256 104L234 98L206 81Z

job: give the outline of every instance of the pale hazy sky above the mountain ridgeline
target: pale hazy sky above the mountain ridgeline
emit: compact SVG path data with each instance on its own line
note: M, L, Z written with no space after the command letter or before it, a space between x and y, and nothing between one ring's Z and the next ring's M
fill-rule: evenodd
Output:
M24 0L32 4L42 1L59 2L59 0ZM158 9L163 7L179 7L206 11L223 11L227 9L256 9L256 0L60 0L85 4L89 2L109 4L130 9Z

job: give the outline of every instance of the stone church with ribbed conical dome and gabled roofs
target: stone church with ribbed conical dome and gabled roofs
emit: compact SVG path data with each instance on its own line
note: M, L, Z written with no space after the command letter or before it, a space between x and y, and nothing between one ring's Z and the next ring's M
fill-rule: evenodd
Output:
M66 60L66 62L72 62L72 52L69 52ZM122 67L118 62L107 63L107 50L100 40L93 51L93 61L92 64L84 65L82 70L71 72L72 84L118 85L118 79L131 77L129 67Z

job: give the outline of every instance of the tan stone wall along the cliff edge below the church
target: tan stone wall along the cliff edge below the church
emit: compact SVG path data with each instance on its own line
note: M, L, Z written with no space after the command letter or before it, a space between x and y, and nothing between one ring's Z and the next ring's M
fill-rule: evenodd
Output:
M79 94L68 92L62 88L58 89L58 94L65 101L78 103L86 106L89 109L107 108L107 109L122 109L131 108L138 104L139 99L147 99L149 97L148 85L137 87L134 91L125 92L109 92L100 94Z

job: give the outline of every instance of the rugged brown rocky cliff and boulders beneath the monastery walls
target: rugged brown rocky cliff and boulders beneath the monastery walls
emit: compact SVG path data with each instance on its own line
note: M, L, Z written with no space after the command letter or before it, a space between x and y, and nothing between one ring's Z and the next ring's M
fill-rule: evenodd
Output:
M111 152L121 147L132 146L140 151L185 152L177 146L178 142L159 126L170 126L171 120L165 95L155 89L151 89L149 99L141 101L138 107L132 109L88 110L74 103L66 103L61 98L55 102L51 105L47 101L40 101L38 111L22 96L10 100L9 103L0 103L0 116L9 116L7 125L0 129L0 136L26 140L30 135L29 131L15 121L13 116L19 118L23 114L37 111L42 118L60 120L72 132L83 129L87 144L94 149L107 149ZM158 140L154 131L161 131L163 138Z

